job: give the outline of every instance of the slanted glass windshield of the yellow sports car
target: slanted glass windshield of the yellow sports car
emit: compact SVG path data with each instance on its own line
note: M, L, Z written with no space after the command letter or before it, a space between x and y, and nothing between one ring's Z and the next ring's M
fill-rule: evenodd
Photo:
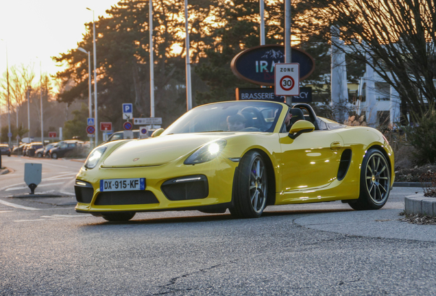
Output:
M195 132L273 132L282 111L279 103L232 101L197 107L168 127L165 134Z

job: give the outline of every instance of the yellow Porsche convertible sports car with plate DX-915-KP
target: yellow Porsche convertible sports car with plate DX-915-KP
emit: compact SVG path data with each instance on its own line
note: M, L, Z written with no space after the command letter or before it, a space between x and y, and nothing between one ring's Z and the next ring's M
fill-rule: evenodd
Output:
M255 218L269 205L335 200L379 209L393 167L378 130L318 117L308 104L210 103L152 138L95 148L77 175L75 210L127 221L161 210Z

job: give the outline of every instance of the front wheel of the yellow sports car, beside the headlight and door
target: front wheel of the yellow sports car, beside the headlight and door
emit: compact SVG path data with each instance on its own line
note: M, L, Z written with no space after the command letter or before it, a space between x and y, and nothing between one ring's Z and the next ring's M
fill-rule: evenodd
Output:
M234 217L258 218L267 206L267 167L261 154L250 151L243 156L234 178L233 205L229 209Z

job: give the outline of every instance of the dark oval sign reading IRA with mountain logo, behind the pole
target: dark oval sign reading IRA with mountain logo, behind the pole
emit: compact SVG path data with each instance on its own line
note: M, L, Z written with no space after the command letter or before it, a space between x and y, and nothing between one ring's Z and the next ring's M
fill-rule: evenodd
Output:
M301 49L291 49L291 62L300 64L300 81L315 70L313 58ZM274 86L274 65L284 63L284 45L261 45L237 54L230 67L237 77L262 86Z

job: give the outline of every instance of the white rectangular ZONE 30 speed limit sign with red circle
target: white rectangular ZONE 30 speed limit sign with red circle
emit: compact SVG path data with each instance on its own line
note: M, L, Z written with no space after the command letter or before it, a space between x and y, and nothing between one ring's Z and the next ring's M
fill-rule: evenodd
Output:
M275 65L274 94L300 95L300 64Z

